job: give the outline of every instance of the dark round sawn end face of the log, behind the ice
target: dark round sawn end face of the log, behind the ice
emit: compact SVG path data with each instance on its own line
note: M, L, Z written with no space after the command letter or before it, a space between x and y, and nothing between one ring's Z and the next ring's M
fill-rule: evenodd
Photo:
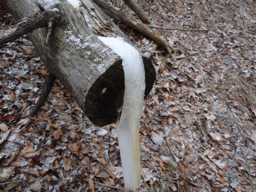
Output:
M151 61L143 58L145 70L145 97L149 94L156 78ZM122 60L103 73L91 86L86 96L84 113L97 126L115 123L120 113L125 91L125 77Z

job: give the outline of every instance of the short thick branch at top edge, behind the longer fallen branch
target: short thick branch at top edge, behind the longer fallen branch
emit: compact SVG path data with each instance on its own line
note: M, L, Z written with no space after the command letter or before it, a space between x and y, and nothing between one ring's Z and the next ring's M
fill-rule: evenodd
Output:
M138 16L138 18L146 24L150 23L149 17L146 12L137 4L135 0L123 0L125 4Z

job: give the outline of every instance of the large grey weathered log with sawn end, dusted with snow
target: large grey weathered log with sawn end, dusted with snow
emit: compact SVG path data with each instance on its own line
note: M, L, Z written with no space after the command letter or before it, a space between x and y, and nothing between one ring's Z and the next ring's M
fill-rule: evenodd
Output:
M39 10L32 0L2 0L15 19ZM53 27L49 45L45 45L47 28L28 33L35 50L49 73L61 81L85 115L98 126L117 120L124 94L122 58L97 36L121 37L132 43L121 30L89 0L73 7L62 0L39 1L46 10L59 10L61 19ZM49 5L51 4L51 5ZM142 53L146 90L153 87L154 66Z

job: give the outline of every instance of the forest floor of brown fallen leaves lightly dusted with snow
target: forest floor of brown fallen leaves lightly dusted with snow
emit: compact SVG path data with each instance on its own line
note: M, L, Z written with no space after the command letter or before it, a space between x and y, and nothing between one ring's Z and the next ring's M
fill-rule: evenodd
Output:
M209 29L160 31L177 52L151 57L139 191L256 191L256 1L139 2L156 26ZM0 28L12 20L1 7ZM154 43L119 28L143 52ZM95 191L128 191L119 153L101 170L118 150L115 124L93 125L59 81L27 117L47 70L18 40L0 49L0 191L89 191L88 178Z

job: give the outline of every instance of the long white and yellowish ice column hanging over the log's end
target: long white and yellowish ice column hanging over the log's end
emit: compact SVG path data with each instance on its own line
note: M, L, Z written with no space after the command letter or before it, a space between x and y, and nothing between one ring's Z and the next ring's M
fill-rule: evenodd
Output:
M123 179L128 189L136 191L141 179L139 156L139 124L145 92L145 71L140 53L129 43L114 37L98 37L122 59L125 94L120 122L117 126Z

